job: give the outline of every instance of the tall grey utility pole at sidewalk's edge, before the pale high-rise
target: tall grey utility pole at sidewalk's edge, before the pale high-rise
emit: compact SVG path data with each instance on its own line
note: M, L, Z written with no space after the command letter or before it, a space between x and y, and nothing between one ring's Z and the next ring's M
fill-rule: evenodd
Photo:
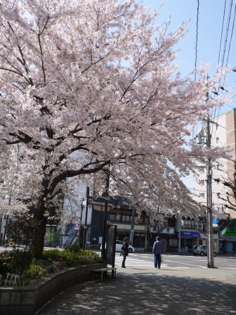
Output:
M208 95L207 95L208 98ZM210 118L206 120L206 146L211 148ZM214 243L212 227L212 193L211 193L211 158L207 158L206 164L206 221L207 221L207 268L214 268Z

